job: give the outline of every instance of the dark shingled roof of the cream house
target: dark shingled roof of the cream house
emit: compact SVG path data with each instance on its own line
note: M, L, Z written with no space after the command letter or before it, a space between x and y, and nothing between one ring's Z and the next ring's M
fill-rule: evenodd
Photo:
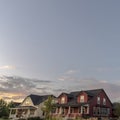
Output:
M52 97L55 98L55 96L53 96L53 95L43 95L43 96L40 96L40 95L33 95L33 94L31 94L31 95L29 95L27 97L31 98L31 100L32 100L34 105L39 105L40 103L42 103L45 100L47 100L49 96L52 96Z

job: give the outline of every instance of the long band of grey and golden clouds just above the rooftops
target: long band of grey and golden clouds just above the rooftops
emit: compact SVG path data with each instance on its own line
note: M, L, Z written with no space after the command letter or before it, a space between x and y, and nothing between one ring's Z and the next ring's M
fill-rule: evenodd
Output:
M5 100L21 101L29 94L53 94L58 96L61 92L71 92L80 90L103 88L111 101L118 101L120 84L110 83L107 80L97 80L95 78L76 78L66 76L63 80L50 81L30 79L19 76L0 76L0 97Z

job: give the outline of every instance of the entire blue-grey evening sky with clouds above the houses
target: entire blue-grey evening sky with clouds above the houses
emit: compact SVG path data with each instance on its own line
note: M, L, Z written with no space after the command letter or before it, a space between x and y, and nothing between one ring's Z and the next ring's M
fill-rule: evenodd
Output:
M0 0L0 98L103 88L120 101L119 0Z

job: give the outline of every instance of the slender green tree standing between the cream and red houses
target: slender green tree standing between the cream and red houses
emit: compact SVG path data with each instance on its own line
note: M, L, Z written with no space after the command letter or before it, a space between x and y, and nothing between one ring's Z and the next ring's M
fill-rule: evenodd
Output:
M42 107L42 111L45 114L45 120L51 120L51 113L55 109L55 104L53 102L53 97L49 96L48 99L44 102L44 106Z

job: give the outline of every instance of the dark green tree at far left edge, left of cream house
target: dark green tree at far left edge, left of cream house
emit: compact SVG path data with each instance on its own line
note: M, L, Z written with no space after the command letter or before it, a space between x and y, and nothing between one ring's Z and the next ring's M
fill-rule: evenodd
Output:
M3 99L0 99L0 117L8 117L9 116L9 108L7 102Z

